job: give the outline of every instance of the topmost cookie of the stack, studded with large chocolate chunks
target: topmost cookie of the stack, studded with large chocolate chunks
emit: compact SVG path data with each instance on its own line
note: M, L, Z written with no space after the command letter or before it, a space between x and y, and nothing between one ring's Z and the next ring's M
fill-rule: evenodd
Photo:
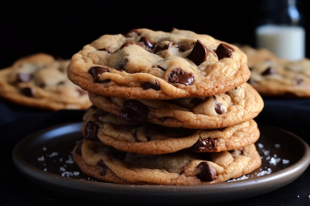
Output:
M251 75L237 46L175 28L103 35L72 56L67 73L93 94L133 99L216 95Z

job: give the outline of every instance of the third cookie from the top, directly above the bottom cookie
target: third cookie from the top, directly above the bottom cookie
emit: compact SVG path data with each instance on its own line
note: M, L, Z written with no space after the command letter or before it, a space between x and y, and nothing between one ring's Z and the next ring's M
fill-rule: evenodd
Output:
M139 154L167 154L181 150L220 152L255 143L259 138L254 120L217 129L165 127L132 122L92 106L83 117L82 133L117 150Z

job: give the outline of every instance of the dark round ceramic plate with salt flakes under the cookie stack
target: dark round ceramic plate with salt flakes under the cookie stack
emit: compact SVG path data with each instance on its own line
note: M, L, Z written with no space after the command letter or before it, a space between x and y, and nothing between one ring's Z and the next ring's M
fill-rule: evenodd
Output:
M58 125L27 136L13 150L14 165L38 186L72 197L124 205L198 205L274 191L297 179L310 164L310 148L303 139L259 125L256 145L262 165L240 180L195 186L104 183L82 174L72 160L72 149L83 138L81 125Z

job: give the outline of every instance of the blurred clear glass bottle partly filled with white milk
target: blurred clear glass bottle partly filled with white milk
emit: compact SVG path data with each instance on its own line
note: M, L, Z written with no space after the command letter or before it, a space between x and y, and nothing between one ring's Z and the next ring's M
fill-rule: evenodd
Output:
M267 48L278 57L305 58L306 35L297 0L263 0L256 28L257 48Z

